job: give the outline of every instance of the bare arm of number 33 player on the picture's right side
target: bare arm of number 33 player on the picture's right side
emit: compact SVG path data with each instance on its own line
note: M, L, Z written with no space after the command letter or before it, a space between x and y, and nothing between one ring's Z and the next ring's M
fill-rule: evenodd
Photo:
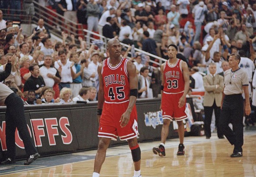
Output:
M185 61L182 61L181 66L182 66L182 72L183 72L183 78L185 81L185 85L184 85L184 93L183 93L182 97L179 99L179 108L184 106L184 104L186 102L186 95L189 90L189 70L188 70L187 63Z

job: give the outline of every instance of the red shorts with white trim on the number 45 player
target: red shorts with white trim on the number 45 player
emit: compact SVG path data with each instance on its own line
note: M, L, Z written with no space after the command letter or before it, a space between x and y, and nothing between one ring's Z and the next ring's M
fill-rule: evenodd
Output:
M124 127L121 127L121 116L128 108L129 101L124 103L106 103L102 108L102 115L99 121L98 137L108 137L117 141L117 137L121 140L128 140L137 137L138 123L136 106L133 107L130 121Z

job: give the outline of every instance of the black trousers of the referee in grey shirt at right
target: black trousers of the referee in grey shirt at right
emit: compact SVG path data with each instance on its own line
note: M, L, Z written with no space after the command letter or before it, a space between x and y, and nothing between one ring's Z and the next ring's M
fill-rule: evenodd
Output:
M234 153L242 152L244 144L244 125L243 125L243 97L241 94L225 95L219 118L219 126L223 134L227 137L230 144L234 144ZM228 126L233 125L233 131Z

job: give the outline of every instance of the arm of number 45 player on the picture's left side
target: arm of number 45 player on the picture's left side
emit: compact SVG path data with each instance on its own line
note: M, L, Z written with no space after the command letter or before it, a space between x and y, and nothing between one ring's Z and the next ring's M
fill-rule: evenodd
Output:
M103 80L102 80L102 74L101 74L101 70L103 67L103 63L101 62L98 66L98 75L99 75L99 92L98 92L98 111L97 111L97 118L98 118L98 122L101 116L101 112L100 110L102 110L103 108L103 103L105 101L104 99L104 89L103 89Z

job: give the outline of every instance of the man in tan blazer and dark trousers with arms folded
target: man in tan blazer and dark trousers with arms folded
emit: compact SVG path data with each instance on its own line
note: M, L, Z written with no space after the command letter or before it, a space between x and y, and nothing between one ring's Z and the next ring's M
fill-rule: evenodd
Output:
M220 104L222 99L222 91L224 88L223 76L216 74L216 64L209 64L209 74L203 77L205 96L204 96L204 111L205 111L205 136L206 139L211 137L211 122L212 112L215 113L215 124L217 126L217 134L219 138L223 137L223 132L219 128Z

